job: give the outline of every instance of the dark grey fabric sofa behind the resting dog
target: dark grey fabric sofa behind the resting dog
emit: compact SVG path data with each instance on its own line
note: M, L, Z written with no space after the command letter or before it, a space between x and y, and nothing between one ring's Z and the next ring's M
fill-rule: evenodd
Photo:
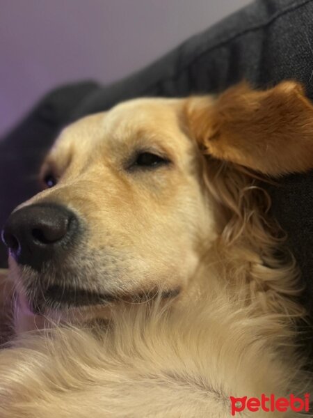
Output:
M312 22L312 0L254 1L120 82L109 86L86 82L50 93L0 142L0 224L17 203L35 192L38 164L57 132L81 116L141 96L217 93L242 79L259 88L296 79L313 100ZM277 187L269 187L273 214L287 231L309 304L313 296L312 186L313 173L309 173L286 176ZM5 265L5 259L1 248L0 265Z

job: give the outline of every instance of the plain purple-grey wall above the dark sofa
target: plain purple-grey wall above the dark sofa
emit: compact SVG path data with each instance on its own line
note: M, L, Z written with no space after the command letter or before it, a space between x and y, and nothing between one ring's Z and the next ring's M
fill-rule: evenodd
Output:
M49 89L107 84L250 0L0 0L0 135Z

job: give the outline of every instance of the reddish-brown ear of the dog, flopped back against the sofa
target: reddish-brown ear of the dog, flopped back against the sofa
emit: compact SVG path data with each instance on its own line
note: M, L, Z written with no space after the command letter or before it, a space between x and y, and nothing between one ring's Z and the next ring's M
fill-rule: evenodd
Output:
M205 153L271 176L313 169L313 106L297 82L266 91L242 83L191 97L184 108Z

